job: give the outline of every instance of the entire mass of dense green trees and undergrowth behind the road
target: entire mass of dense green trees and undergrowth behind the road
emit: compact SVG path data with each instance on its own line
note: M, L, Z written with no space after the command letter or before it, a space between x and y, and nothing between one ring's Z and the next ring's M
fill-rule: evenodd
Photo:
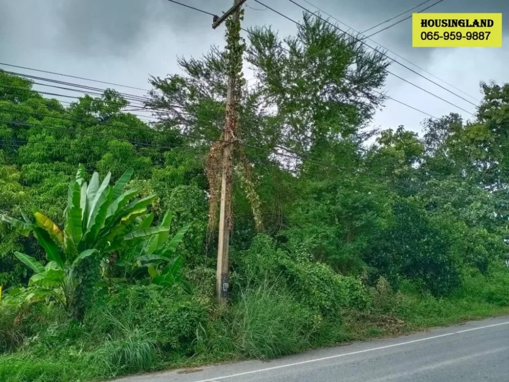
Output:
M151 77L150 124L114 90L65 105L0 71L0 380L278 357L509 311L509 85L482 84L475 118L427 120L423 137L370 130L383 54L308 15L295 36L252 32L222 307L206 174L231 52Z

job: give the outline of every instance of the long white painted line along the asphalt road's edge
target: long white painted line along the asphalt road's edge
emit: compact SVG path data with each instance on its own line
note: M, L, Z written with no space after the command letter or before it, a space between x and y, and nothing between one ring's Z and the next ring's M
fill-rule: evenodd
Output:
M509 321L507 321L507 322L501 322L501 323L495 323L495 324L492 324L492 325L479 326L478 328L472 328L472 329L460 330L460 331L458 331L458 332L452 332L452 333L440 334L440 335L437 335L437 336L431 336L431 337L426 337L426 338L420 338L420 339L418 339L418 340L412 340L412 341L406 341L406 342L399 342L399 343L395 343L395 344L391 344L391 345L385 345L385 346L373 347L373 348L371 348L371 349L357 350L357 351L352 351L352 352L350 352L350 353L336 354L335 356L329 356L329 357L323 357L323 358L316 358L316 359L313 359L313 360L307 360L307 361L301 361L301 362L294 362L294 363L286 364L286 365L279 365L279 366L266 367L266 368L264 368L264 369L251 370L251 371L244 371L244 372L242 372L242 373L237 373L237 374L223 375L223 376L214 377L214 378L209 378L209 379L201 379L201 380L197 380L197 381L195 381L195 382L214 382L214 381L217 381L218 379L233 378L233 377L238 377L238 376L241 376L241 375L254 374L254 373L261 373L262 371L276 370L276 369L281 369L281 368L285 368L285 367L292 367L292 366L297 366L297 365L308 364L308 363L312 363L312 362L319 362L319 361L331 360L331 359L334 359L334 358L340 358L340 357L346 357L346 356L353 356L354 354L366 353L366 352L368 352L368 351L375 351L375 350L388 349L388 348L390 348L390 347L396 347L396 346L408 345L408 344L411 344L411 343L422 342L422 341L429 341L429 340L433 340L433 339L435 339L435 338L441 338L441 337L453 336L453 335L455 335L455 334L461 334L461 333L466 333L466 332L472 332L472 331L480 330L480 329L488 329L488 328L493 328L494 326L508 325L508 324L509 324Z

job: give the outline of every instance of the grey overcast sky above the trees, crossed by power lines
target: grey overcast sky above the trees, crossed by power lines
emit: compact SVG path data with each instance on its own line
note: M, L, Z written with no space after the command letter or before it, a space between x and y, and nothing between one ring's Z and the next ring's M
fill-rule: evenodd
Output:
M227 10L233 3L232 0L180 1L216 14ZM312 11L317 10L309 3L316 5L357 31L371 28L422 1L308 0L306 3L305 0L296 0ZM302 17L302 9L287 0L262 0L262 2L296 20ZM431 1L425 6L434 2ZM272 25L283 35L295 32L294 23L264 9L253 0L247 0L246 6L244 26ZM0 62L140 88L149 87L147 83L149 74L165 76L167 73L179 72L176 65L177 56L199 57L211 44L224 44L224 26L212 30L210 16L167 0L0 0L0 10ZM426 12L501 12L509 15L509 1L444 0ZM506 16L504 19L502 48L412 48L411 19L374 36L373 40L376 43L373 41L367 43L371 46L382 44L449 84L480 99L479 81L495 80L500 84L509 82L507 18ZM344 25L340 26L345 28ZM395 57L391 52L388 52L388 56L477 103L430 74ZM0 68L37 75L26 70L2 66ZM389 70L471 113L475 112L473 105L398 64L392 64ZM246 76L251 78L249 72ZM65 80L62 77L59 79ZM93 83L87 85L104 87ZM48 88L44 90L51 91ZM436 117L458 112L466 119L471 118L470 114L392 75L388 76L385 90L390 97ZM143 95L143 92L132 89L123 91ZM426 116L421 113L388 100L384 110L376 115L373 125L394 128L402 124L408 129L420 131L420 122L425 118Z

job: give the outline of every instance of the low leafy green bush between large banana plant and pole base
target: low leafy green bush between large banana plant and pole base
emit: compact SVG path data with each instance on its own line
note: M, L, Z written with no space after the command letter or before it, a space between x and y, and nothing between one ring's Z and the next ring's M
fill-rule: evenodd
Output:
M207 319L205 307L177 285L122 285L116 293L99 299L87 313L84 325L95 338L144 338L152 341L151 346L186 352L191 349L196 330ZM137 336L140 333L143 335Z

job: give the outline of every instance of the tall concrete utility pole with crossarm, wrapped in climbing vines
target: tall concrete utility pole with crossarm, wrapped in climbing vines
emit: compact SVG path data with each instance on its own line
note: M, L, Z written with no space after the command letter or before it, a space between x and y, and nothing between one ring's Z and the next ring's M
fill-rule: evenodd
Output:
M216 29L224 20L232 15L232 21L240 22L240 7L246 0L234 0L234 5L221 17L214 16L212 28ZM228 33L232 33L229 31ZM228 36L229 39L240 41L240 31L234 32L236 36ZM231 56L232 57L232 56ZM231 63L231 67L234 65ZM223 163L221 174L221 204L219 207L219 242L217 245L217 268L216 268L216 295L218 304L224 304L228 297L229 264L228 252L230 244L230 225L232 209L232 143L235 139L237 127L237 105L236 92L238 84L236 81L238 73L229 73L228 92L226 101L226 120L223 129Z

